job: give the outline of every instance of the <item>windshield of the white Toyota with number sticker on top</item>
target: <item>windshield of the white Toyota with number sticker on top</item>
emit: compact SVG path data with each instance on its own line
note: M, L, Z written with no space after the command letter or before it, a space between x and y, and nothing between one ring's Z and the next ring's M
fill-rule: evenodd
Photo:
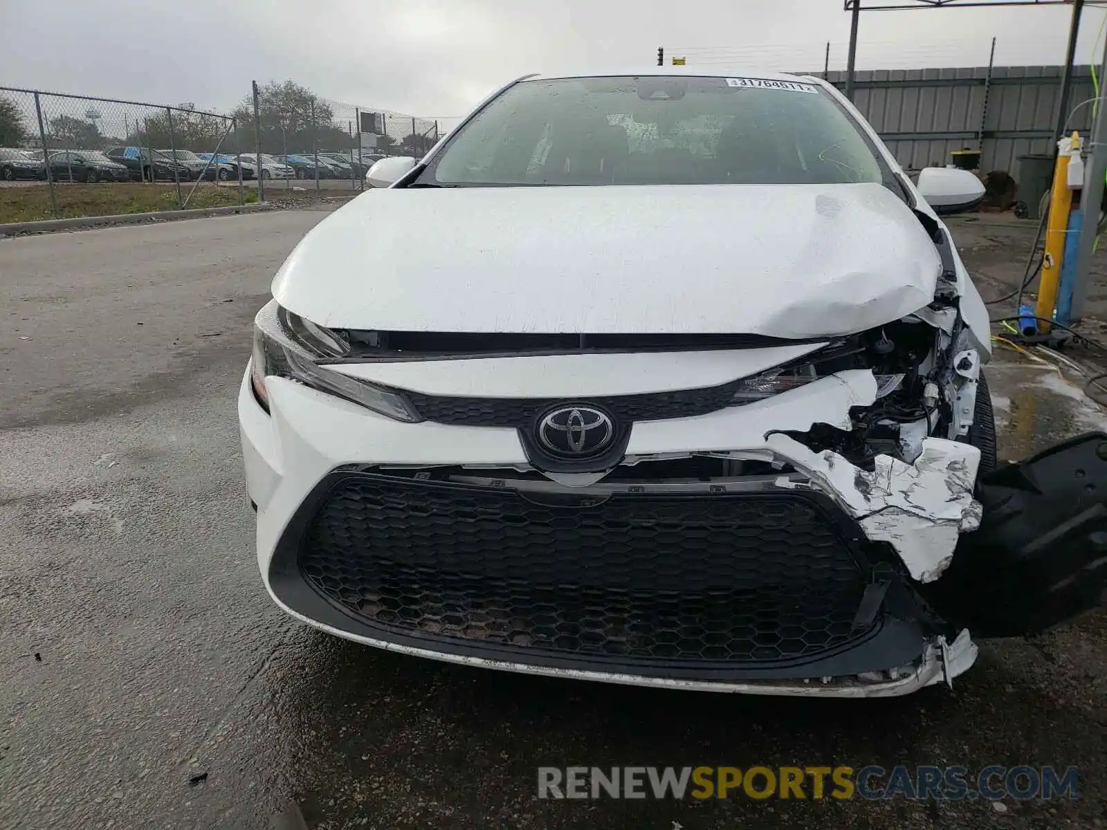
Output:
M518 83L421 180L442 185L880 183L857 125L817 84L751 77Z

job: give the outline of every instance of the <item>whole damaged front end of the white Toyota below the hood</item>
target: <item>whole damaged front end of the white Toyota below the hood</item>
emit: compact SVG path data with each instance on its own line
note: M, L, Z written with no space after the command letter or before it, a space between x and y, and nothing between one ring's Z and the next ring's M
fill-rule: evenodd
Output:
M241 405L313 484L270 590L362 643L532 674L952 684L972 636L1056 625L1107 579L1107 436L997 466L953 256L925 307L807 339L332 330L272 303Z

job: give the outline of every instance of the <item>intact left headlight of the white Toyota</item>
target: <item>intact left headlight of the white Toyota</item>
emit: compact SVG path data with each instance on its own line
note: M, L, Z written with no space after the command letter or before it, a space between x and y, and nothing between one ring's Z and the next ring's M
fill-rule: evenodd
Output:
M273 300L254 320L250 360L254 393L268 408L265 378L269 375L288 377L396 421L420 421L403 395L341 374L320 363L341 359L348 352L349 344L341 335L282 309Z

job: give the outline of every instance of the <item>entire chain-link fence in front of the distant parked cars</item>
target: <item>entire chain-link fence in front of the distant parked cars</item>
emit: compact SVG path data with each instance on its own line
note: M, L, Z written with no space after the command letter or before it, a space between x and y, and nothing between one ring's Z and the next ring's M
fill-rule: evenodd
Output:
M356 193L374 162L421 157L439 135L434 118L323 98L292 81L254 83L229 115L0 87L0 186L42 185L18 194L38 205L20 220L242 205L272 188ZM74 183L127 187L90 196Z

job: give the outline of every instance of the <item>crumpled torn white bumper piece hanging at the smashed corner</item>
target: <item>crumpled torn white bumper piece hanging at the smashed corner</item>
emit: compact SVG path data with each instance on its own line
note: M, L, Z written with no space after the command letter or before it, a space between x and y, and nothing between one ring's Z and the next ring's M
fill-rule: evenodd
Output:
M770 435L768 444L834 496L870 540L891 543L920 582L938 579L958 537L980 526L981 505L973 498L980 450L969 444L924 438L913 464L880 455L872 473L787 435Z

